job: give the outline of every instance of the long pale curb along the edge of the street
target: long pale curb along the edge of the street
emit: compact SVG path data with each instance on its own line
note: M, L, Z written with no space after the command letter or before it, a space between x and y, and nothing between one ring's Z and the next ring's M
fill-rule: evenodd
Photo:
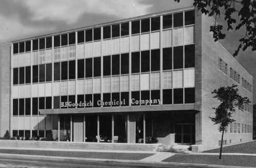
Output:
M140 160L121 160L121 159L97 159L97 158L81 158L81 157L62 157L62 156L41 156L41 155L24 155L24 154L7 154L0 153L0 156L19 156L23 158L37 158L37 159L58 159L58 160L83 160L83 161L101 161L101 162L120 162L120 163L145 163L145 164L162 164L162 165L186 165L186 166L207 166L218 168L255 168L248 166L231 166L231 165L219 165L219 164L195 164L195 163L178 163L178 162L150 162Z

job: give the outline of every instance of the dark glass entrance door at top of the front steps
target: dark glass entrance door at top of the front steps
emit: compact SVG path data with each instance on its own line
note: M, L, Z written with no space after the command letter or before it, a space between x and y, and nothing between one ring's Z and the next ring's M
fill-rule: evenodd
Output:
M194 144L195 143L195 124L181 123L175 125L175 143Z

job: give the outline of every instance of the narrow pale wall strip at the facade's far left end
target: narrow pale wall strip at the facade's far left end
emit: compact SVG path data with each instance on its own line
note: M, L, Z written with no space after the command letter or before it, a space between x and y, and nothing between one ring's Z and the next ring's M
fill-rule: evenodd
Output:
M0 136L10 131L10 56L11 45L0 46Z

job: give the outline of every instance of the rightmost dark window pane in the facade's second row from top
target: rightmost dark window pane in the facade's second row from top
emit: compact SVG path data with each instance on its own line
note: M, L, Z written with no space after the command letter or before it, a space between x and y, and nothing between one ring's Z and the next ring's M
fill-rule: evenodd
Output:
M195 45L185 45L185 68L195 67Z

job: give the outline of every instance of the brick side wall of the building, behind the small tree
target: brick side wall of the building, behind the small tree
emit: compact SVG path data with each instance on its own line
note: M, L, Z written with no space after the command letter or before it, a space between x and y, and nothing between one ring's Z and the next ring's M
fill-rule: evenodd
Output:
M212 98L211 92L224 86L231 86L232 83L238 85L239 94L246 96L252 101L252 92L247 91L242 87L242 77L252 84L252 76L228 53L228 51L219 43L214 42L212 33L209 33L209 26L213 24L213 20L208 16L202 15L202 149L216 148L219 146L221 133L218 131L218 125L209 119L214 117L215 110L212 107L217 107L219 102L216 98ZM221 58L228 64L227 75L218 69L218 59ZM230 67L240 74L240 83L233 81L230 78ZM252 125L252 113L247 111L236 110L233 114L233 119L237 123ZM250 141L251 133L230 133L228 127L224 135L224 140L227 140L227 145Z

